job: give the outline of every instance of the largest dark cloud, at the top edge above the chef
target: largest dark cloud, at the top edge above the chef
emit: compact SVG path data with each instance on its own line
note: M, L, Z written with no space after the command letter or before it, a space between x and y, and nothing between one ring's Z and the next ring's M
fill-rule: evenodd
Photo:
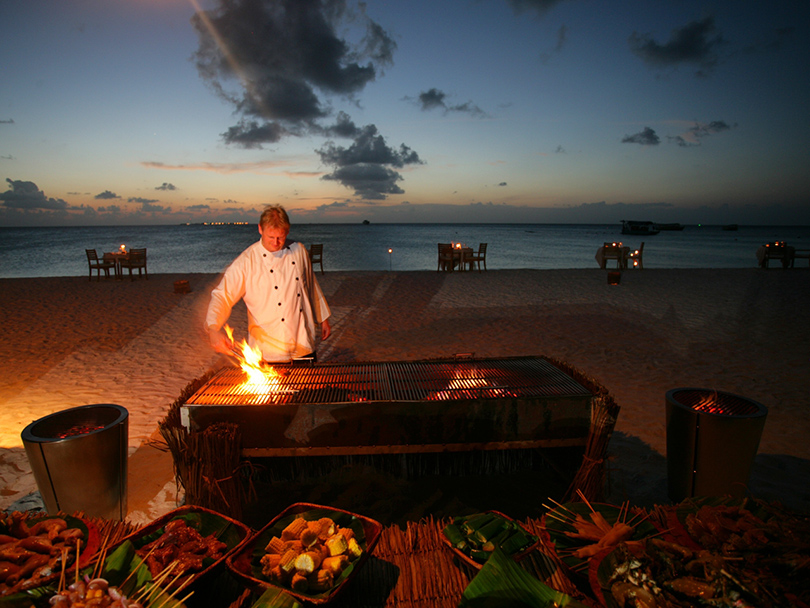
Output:
M352 11L345 0L216 0L192 24L197 70L241 116L223 137L246 148L322 129L322 97L359 93L396 49L362 5ZM356 43L341 38L358 26Z

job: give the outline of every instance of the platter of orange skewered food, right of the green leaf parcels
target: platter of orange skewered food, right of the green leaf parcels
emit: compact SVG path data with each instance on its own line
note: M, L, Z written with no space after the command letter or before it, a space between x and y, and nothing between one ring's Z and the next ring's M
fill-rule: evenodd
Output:
M589 524L602 521L611 531L603 531L600 538L585 538L575 520ZM583 571L592 556L619 541L641 541L659 533L643 512L629 513L625 506L587 502L558 504L543 516L543 528L557 556L574 572Z

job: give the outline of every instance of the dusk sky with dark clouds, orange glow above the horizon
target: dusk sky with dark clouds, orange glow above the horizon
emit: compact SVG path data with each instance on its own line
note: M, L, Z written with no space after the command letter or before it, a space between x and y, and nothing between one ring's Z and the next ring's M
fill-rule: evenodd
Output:
M0 226L810 225L796 0L0 0Z

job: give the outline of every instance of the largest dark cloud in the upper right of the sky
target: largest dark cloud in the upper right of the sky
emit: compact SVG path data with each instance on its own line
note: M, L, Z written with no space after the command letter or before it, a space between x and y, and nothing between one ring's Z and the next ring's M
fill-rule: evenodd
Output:
M638 32L633 32L628 42L630 50L653 67L691 63L700 66L699 74L706 74L717 64L717 48L724 44L713 17L691 21L673 30L669 41L664 44L656 42L649 34Z

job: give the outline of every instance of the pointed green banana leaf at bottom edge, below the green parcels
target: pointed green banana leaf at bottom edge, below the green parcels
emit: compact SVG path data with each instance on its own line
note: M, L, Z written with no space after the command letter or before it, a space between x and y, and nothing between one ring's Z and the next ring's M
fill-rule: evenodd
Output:
M459 608L586 608L540 582L496 548L461 596Z

